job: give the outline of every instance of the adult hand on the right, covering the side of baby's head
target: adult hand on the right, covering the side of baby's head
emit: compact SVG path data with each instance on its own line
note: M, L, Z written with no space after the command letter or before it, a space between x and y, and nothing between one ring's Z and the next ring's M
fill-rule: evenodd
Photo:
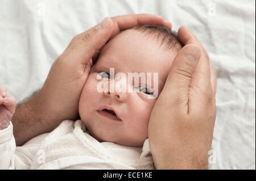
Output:
M156 169L208 169L216 119L216 71L207 52L186 27L152 110L148 139Z

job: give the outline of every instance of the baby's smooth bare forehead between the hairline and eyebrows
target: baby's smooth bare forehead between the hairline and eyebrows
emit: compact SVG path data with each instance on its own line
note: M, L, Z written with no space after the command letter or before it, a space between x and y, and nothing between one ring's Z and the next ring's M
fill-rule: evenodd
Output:
M170 68L176 53L175 50L161 47L155 37L127 30L119 33L102 48L98 64L127 71L158 72Z

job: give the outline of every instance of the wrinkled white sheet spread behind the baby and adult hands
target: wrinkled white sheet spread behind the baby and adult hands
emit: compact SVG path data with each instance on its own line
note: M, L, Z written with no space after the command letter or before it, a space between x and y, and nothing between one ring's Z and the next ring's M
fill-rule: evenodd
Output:
M39 89L77 33L105 16L148 13L192 30L217 70L210 169L255 169L255 1L1 0L0 85L18 101Z

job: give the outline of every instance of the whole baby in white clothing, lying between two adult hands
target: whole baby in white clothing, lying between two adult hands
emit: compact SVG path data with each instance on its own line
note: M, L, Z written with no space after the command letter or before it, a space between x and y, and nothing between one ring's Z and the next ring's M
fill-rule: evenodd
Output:
M15 99L8 103L0 90L0 169L154 169L148 121L181 47L176 34L160 26L119 33L90 70L79 100L81 120L64 120L20 147L10 121Z

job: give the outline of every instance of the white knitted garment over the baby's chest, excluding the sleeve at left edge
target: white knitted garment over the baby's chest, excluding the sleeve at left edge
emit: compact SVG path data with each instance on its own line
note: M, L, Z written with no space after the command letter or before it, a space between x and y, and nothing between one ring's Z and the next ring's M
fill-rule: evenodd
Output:
M148 139L137 159L126 159L110 154L82 125L81 120L64 120L42 142L30 169L155 169Z

